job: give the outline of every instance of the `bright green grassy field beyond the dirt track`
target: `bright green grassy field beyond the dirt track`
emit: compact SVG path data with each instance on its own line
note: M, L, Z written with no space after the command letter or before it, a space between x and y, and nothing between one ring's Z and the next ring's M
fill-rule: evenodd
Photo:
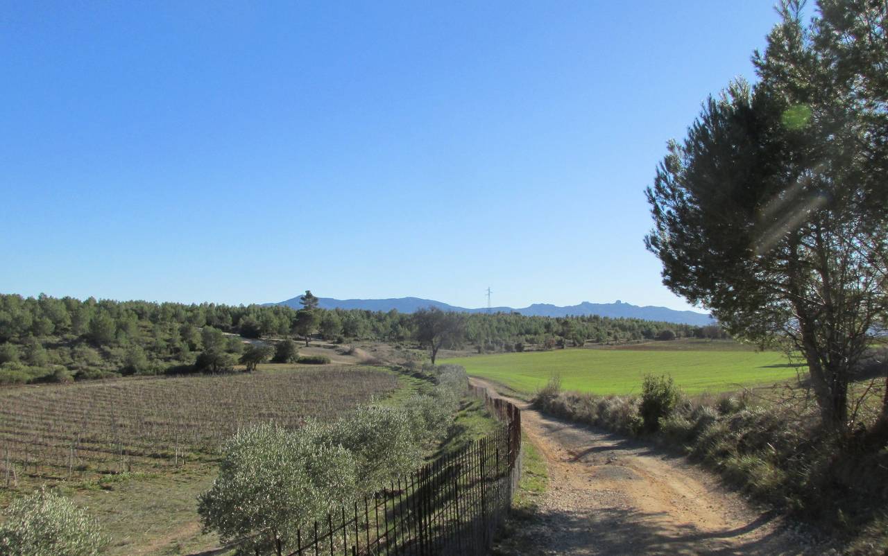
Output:
M556 349L457 357L472 376L496 380L533 394L554 374L567 390L638 394L646 373L670 374L688 394L725 392L792 379L805 367L788 364L779 352L758 352L733 342L655 342L616 349Z

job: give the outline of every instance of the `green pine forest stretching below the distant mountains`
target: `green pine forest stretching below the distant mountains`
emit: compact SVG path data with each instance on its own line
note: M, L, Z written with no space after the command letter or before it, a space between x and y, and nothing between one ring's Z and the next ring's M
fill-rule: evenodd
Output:
M248 369L255 368L263 356L253 353L243 338L282 341L299 337L307 341L318 337L340 343L416 339L413 315L395 310L317 309L312 298L307 297L305 308L297 310L277 305L80 301L0 294L0 383L215 372L238 361ZM525 317L517 313L463 317L462 343L478 351L724 337L717 326L630 318ZM271 351L264 355L271 356Z

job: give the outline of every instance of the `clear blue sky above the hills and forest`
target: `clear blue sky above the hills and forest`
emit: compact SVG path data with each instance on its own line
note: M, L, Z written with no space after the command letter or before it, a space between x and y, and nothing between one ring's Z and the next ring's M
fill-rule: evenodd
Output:
M687 309L644 188L771 0L4 2L0 292Z

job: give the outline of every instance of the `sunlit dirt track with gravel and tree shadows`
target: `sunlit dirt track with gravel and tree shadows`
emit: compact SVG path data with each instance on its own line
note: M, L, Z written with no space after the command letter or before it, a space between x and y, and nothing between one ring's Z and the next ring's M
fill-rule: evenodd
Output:
M472 384L496 391L486 380ZM540 519L510 543L519 553L819 553L684 458L507 399L549 470Z

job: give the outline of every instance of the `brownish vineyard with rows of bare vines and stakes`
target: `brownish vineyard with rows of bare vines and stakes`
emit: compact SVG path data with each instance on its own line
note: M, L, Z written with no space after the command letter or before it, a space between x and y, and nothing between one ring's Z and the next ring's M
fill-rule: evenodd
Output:
M0 484L185 466L240 427L334 419L398 387L352 367L12 388L0 391Z

